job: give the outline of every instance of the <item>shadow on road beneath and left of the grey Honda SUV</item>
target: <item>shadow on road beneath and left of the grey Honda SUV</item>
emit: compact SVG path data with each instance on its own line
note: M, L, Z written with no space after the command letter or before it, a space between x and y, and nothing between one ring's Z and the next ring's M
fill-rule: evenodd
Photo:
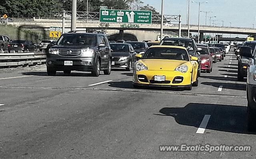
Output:
M22 75L27 75L27 76L48 76L47 72L22 72ZM104 74L100 74L100 75L104 75ZM65 76L63 72L57 72L56 73L56 77L61 77L61 76ZM80 73L80 72L71 72L70 75L68 75L70 77L94 77L92 74L90 73Z

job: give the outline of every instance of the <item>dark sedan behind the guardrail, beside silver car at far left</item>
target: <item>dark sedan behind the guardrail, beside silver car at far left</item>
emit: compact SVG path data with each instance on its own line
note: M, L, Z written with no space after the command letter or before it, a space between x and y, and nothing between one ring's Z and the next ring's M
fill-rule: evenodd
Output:
M34 52L36 46L28 40L14 40L8 45L8 52Z

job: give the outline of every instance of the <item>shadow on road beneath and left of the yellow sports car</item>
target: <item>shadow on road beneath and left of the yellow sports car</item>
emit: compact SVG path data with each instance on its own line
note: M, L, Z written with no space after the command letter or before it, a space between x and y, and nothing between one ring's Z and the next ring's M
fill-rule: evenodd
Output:
M177 87L150 87L150 86L143 86L140 88L134 88L132 81L113 81L108 82L108 86L115 87L115 88L125 88L125 89L146 89L146 90L158 90L158 91L184 91L182 88Z

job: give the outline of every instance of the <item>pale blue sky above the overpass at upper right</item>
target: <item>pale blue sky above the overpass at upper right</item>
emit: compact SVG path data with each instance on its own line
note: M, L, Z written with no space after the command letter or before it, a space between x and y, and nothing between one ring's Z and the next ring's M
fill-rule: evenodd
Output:
M188 0L164 0L164 14L182 16L182 24L187 20ZM207 11L208 16L216 16L215 24L222 26L256 27L256 0L194 0L195 2L208 2L201 4L200 10ZM142 0L144 4L154 6L158 12L161 11L161 0ZM198 24L198 3L190 0L190 24ZM213 12L211 12L213 11ZM206 14L200 13L200 25L205 25ZM213 19L212 19L213 20ZM207 25L210 21L207 17Z

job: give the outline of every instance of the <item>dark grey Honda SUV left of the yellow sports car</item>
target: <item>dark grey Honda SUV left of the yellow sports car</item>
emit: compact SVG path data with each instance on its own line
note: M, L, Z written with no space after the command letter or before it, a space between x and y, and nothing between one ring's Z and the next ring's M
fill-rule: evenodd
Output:
M96 77L103 70L109 75L112 64L110 44L103 33L68 32L49 49L46 62L48 76L55 76L56 71L69 75L73 70L92 72Z

